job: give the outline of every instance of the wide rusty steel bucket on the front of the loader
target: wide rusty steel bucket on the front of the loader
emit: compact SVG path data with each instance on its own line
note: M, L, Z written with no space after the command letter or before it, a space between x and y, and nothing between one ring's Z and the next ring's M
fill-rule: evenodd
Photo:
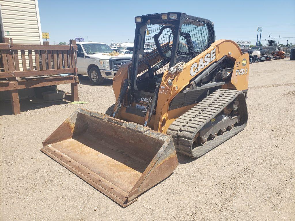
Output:
M41 151L123 207L178 165L171 136L82 108Z

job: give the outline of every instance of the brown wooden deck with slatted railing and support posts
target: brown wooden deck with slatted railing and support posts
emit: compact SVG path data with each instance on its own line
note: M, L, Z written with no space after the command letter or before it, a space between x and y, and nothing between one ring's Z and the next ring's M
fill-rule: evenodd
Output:
M0 44L0 91L10 92L14 115L20 114L19 89L71 83L71 93L66 93L65 99L79 100L74 53L76 41L70 40L73 46L49 45L49 42L43 42L43 45L13 44L9 38L3 38L3 42Z

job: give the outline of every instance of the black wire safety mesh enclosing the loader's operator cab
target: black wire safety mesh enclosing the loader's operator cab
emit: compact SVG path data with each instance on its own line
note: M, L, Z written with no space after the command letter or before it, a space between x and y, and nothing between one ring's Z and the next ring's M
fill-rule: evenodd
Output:
M138 63L137 77L148 70L148 65L154 67L159 62L161 62L161 65L159 69L156 70L155 74L161 74L169 69L170 58L161 57L159 55L154 40L154 35L158 34L162 27L163 25L160 24L147 24L143 43L144 57ZM172 49L173 33L173 28L166 28L158 38L164 54L168 52L169 49ZM214 42L214 29L211 23L186 19L181 27L179 35L176 62L188 62L206 50L212 42Z

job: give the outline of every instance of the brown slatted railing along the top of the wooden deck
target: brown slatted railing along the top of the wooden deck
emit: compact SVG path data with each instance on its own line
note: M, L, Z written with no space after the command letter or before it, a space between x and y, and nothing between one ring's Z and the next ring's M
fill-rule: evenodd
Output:
M11 44L8 38L5 40L5 43L0 44L3 61L1 68L4 70L0 72L0 78L75 72L73 50L77 50L77 45L72 47L71 45ZM76 44L76 41L70 43ZM35 62L33 62L33 55Z

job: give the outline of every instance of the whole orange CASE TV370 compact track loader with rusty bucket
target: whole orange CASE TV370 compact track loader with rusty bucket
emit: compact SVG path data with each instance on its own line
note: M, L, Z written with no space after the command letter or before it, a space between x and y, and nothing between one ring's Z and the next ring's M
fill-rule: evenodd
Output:
M248 119L249 56L235 42L214 41L209 20L184 13L135 23L132 63L109 61L116 103L78 109L41 149L123 207L172 174L176 151L200 157Z

